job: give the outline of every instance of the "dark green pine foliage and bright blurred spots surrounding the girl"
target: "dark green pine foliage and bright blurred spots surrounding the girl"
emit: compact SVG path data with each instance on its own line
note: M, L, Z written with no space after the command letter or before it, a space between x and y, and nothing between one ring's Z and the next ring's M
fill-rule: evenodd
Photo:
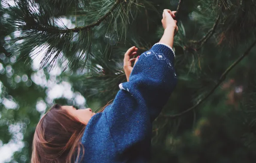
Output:
M1 0L0 163L30 162L54 103L97 112L113 100L126 50L158 42L163 9L179 4L178 85L152 163L255 163L254 0Z

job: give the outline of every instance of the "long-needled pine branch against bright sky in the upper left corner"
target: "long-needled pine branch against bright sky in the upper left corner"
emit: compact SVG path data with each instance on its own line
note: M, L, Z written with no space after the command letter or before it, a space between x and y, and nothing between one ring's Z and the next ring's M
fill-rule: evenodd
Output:
M116 16L116 18L122 16L121 12L116 13L115 11L124 2L121 0L112 0L111 2L113 3L106 6L108 11L102 11L101 16L94 23L68 29L64 24L55 25L56 21L52 16L53 13L46 12L44 4L42 4L43 7L39 7L38 11L40 12L37 12L33 7L35 3L32 1L28 3L30 1L15 0L15 6L11 6L6 2L6 6L9 6L9 8L5 9L5 11L10 18L3 18L5 23L11 26L12 29L22 31L22 33L20 32L20 36L8 40L9 44L13 45L10 47L10 50L14 52L25 50L27 47L35 47L27 52L27 54L33 57L37 57L40 51L45 51L40 61L40 68L49 67L49 70L54 68L57 63L62 64L64 57L67 60L65 67L71 65L70 69L72 70L78 68L83 69L92 54L92 36L94 32L92 28L106 21L106 18L110 15ZM123 26L126 25L125 21L127 20L125 18L122 18L120 21ZM6 28L6 32L11 33L13 31ZM26 41L14 44L19 40Z

